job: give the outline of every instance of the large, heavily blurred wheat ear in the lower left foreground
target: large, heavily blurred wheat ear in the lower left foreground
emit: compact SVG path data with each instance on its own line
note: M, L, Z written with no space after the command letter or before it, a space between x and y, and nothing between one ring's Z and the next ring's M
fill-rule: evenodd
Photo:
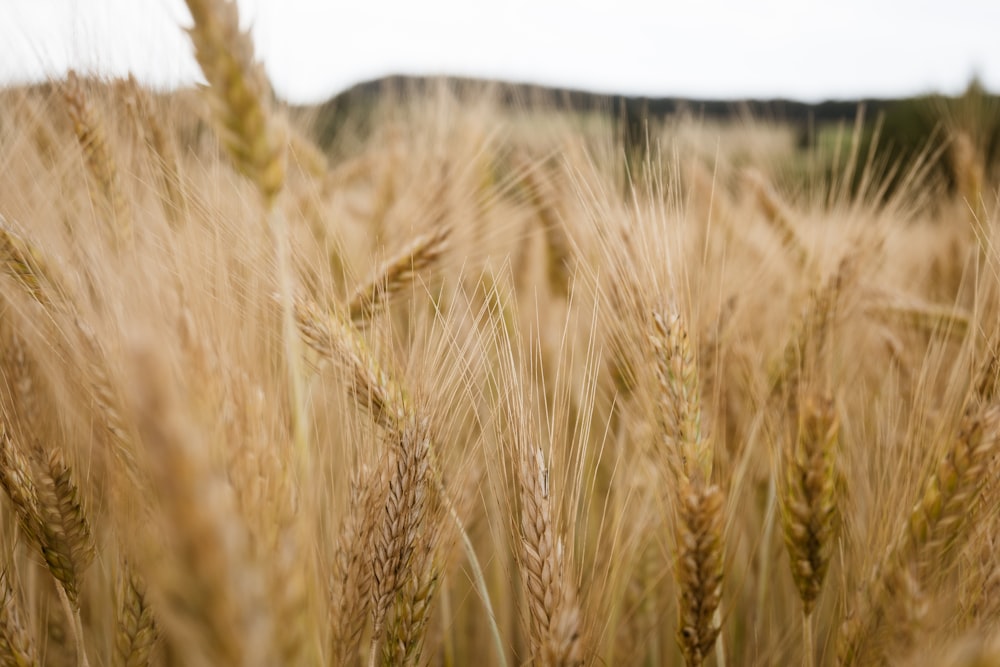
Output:
M164 631L187 639L189 656L211 664L264 665L268 612L251 562L249 533L207 443L179 404L172 378L151 352L135 354L132 408L148 456L168 551L151 559L147 585Z

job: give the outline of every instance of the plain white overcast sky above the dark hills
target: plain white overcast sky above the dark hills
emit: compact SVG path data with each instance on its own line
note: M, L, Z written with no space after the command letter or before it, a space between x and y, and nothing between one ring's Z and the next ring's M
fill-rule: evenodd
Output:
M384 74L808 101L1000 91L997 0L240 0L278 94ZM67 67L191 83L182 0L0 0L0 83Z

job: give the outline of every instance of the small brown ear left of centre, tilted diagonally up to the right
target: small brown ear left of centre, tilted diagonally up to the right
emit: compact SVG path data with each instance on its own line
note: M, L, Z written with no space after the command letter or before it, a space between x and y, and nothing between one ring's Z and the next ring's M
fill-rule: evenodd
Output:
M444 252L448 227L439 227L413 239L386 260L351 297L348 312L357 323L371 319L378 307L410 285L416 276L433 266Z

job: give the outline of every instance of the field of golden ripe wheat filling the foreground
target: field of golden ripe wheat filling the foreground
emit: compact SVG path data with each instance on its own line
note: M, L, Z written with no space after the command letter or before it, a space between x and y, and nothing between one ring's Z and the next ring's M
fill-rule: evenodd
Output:
M204 89L0 92L0 664L1000 665L981 128L321 150L187 4Z

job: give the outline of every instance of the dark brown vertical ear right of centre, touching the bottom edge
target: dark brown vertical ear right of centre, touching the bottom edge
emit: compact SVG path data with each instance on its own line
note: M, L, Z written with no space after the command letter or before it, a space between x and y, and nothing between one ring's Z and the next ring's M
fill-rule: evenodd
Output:
M680 492L677 524L677 641L685 662L701 665L719 634L715 613L722 599L724 496L695 480Z

